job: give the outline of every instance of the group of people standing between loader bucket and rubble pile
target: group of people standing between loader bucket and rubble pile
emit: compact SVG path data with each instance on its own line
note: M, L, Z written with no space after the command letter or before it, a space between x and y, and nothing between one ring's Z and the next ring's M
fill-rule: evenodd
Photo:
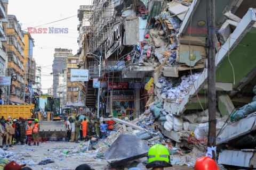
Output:
M72 117L64 118L67 126L67 140L70 142L78 143L78 139L81 141L87 141L92 137L105 138L108 130L113 130L114 121L108 121L106 124L103 121L100 124L98 118L86 118L79 120L77 116L75 119Z

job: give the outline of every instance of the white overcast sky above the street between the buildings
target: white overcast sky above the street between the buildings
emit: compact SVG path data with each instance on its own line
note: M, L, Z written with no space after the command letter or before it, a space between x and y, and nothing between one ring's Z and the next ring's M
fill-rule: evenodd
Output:
M68 28L68 33L50 34L47 33L31 34L35 40L33 57L37 66L42 66L42 91L47 92L47 88L52 86L53 77L52 62L54 48L73 49L73 54L78 49L78 31L79 24L77 10L80 5L89 5L91 0L9 0L8 14L15 15L19 23L22 23L22 30L27 31L28 27L36 27L46 23L38 28ZM71 18L70 18L71 17Z

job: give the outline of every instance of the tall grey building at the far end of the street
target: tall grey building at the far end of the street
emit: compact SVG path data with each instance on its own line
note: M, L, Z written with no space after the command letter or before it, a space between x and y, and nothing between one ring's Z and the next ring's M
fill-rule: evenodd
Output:
M57 87L59 85L59 73L67 69L67 57L73 56L72 49L55 48L53 70L53 97L57 97Z

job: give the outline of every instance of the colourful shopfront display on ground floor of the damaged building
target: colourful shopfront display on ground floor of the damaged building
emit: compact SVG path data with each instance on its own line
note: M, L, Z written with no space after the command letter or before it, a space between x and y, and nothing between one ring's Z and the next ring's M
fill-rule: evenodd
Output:
M134 91L113 91L111 95L111 114L113 117L124 119L135 112ZM134 119L134 115L130 120Z

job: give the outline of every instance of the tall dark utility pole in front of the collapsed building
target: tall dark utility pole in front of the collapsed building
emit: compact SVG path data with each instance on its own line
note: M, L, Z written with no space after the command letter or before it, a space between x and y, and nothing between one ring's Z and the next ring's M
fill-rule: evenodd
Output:
M215 0L207 1L208 11L208 109L209 109L209 134L208 147L216 146L216 90L215 90ZM213 159L216 159L215 152L212 152Z

